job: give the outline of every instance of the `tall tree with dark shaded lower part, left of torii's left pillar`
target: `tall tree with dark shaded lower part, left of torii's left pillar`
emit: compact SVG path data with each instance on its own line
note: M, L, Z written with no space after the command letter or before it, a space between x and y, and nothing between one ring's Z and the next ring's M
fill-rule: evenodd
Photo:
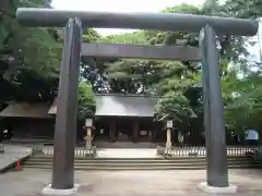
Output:
M61 30L21 26L19 7L43 7L43 1L10 0L0 16L0 86L8 91L0 100L48 101L58 85Z

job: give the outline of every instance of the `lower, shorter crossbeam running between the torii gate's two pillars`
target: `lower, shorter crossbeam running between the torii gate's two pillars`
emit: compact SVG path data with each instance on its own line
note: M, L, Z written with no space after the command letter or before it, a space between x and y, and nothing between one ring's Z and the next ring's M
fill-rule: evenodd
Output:
M81 54L103 58L201 61L199 48L178 46L84 42Z

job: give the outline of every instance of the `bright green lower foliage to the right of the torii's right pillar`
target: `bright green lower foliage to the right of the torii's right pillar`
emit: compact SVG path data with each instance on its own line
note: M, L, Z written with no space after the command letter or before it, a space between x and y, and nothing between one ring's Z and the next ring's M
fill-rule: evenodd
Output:
M235 97L227 100L225 106L226 125L231 128L242 130L251 126L261 131L262 114L262 76L249 74L239 79L236 85Z

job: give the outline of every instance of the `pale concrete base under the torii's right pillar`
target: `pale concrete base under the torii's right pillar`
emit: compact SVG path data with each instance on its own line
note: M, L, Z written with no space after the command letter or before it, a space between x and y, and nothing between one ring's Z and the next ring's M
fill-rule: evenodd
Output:
M237 193L237 186L235 186L235 185L229 185L227 187L214 187L214 186L209 186L206 182L200 183L198 188L205 193L213 193L213 194L235 194L235 193Z

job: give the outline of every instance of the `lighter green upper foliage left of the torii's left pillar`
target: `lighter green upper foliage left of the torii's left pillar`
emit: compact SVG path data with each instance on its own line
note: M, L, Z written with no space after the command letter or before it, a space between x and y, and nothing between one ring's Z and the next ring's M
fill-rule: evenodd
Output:
M23 27L14 16L19 7L40 7L41 3L40 0L12 1L2 15L0 58L13 59L7 70L12 73L7 73L8 75L15 76L20 70L26 69L45 77L58 77L61 44L55 39L48 28Z

